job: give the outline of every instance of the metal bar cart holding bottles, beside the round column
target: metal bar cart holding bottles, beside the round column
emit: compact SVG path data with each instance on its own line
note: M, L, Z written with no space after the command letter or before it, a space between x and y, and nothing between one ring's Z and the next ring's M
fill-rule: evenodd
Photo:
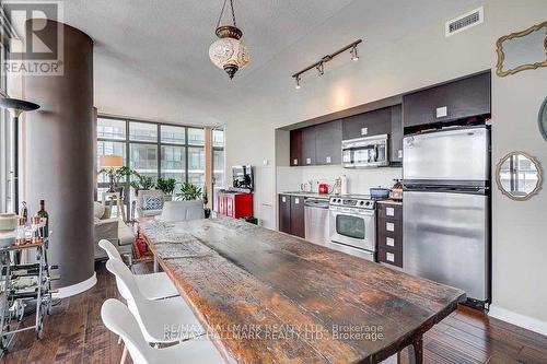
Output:
M50 234L49 234L50 235ZM7 351L15 333L34 330L37 339L44 334L44 316L51 313L53 293L47 247L49 237L24 244L0 247L0 350ZM21 256L34 259L21 263ZM25 315L35 312L34 325L21 327Z

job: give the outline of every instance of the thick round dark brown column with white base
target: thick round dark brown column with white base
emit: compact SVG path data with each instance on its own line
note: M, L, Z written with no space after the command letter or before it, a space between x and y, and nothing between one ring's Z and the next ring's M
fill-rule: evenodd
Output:
M27 27L33 20L27 22ZM92 286L93 40L69 25L63 32L63 75L27 75L24 96L40 105L26 115L26 202L35 214L46 200L50 263L59 265L60 295ZM47 26L50 36L56 27ZM49 35L49 34L48 34Z

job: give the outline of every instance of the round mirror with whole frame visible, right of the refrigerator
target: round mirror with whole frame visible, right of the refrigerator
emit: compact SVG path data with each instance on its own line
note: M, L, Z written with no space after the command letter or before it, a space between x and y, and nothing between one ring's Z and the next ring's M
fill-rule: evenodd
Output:
M515 201L525 201L542 189L539 161L525 152L509 153L498 163L496 181L503 195Z

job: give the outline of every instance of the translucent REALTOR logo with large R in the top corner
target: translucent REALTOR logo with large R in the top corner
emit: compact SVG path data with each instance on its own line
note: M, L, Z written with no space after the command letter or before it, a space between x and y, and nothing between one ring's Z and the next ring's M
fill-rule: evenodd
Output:
M8 74L62 75L62 1L3 1L2 38Z

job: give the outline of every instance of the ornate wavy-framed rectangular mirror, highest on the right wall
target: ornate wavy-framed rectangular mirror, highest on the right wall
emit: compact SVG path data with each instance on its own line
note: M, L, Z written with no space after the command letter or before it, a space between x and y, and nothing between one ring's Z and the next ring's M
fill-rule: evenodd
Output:
M547 22L511 33L496 42L500 77L547 67Z

